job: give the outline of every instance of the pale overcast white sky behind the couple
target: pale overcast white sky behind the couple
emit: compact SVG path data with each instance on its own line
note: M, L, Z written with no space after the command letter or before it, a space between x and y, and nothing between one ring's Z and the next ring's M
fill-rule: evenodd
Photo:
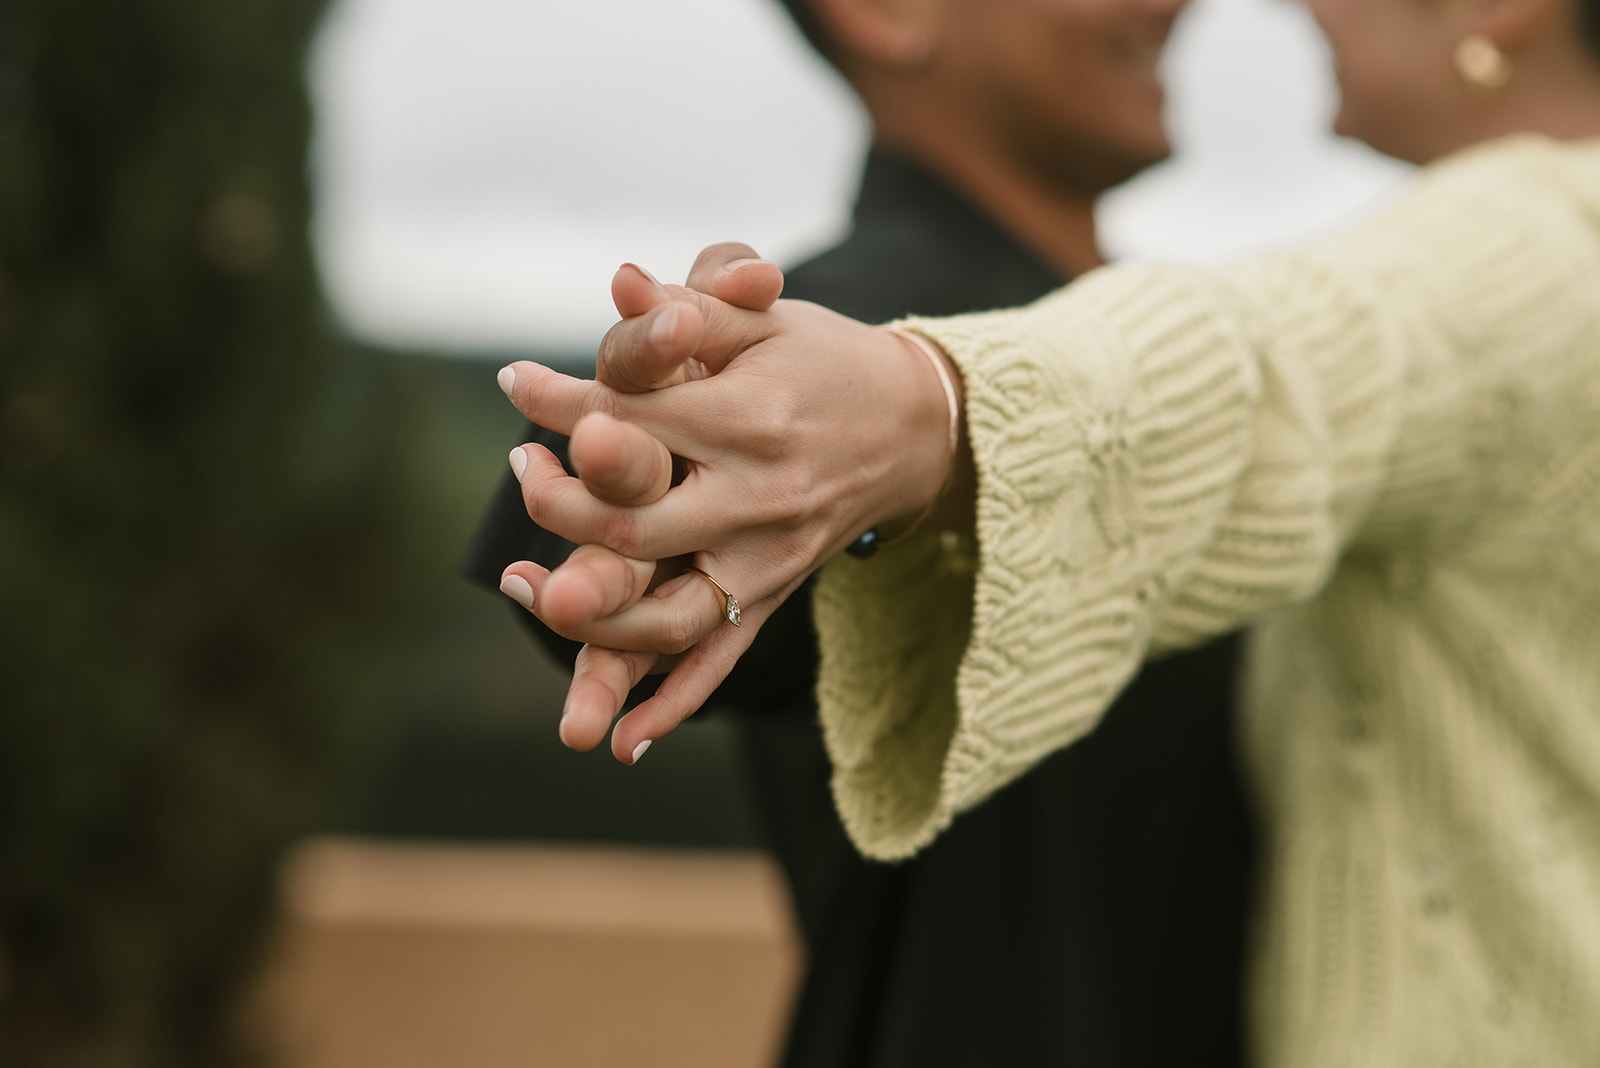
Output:
M1326 133L1291 0L1195 0L1166 56L1178 152L1107 198L1118 257L1219 262L1368 209L1403 168ZM590 352L611 272L837 240L866 125L774 0L336 0L312 51L317 248L366 341Z

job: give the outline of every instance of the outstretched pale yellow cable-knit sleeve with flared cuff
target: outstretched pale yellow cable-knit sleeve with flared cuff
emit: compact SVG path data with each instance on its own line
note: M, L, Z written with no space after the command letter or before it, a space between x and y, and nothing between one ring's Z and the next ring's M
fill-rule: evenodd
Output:
M862 852L925 846L1146 657L1515 508L1552 444L1507 401L1571 389L1600 337L1597 155L1517 139L1298 253L909 323L965 376L979 558L960 574L928 532L821 572L822 727Z

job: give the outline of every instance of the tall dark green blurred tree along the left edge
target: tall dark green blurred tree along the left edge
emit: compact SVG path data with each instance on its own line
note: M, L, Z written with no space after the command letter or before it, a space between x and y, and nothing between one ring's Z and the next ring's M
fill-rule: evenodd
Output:
M0 6L0 1063L240 1063L382 694L403 392L307 243L322 0Z

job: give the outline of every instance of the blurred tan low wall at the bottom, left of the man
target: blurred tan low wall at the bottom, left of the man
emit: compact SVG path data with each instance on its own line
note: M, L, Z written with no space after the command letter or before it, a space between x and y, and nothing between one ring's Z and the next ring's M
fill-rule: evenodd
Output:
M762 854L318 839L285 911L283 1068L758 1068L800 967Z

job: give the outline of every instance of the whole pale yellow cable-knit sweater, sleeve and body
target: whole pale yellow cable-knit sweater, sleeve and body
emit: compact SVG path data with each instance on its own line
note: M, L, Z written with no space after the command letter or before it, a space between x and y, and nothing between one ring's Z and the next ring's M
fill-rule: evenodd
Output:
M979 564L926 534L821 574L859 847L915 852L1141 659L1248 625L1254 1062L1600 1063L1600 142L909 326L966 376Z

